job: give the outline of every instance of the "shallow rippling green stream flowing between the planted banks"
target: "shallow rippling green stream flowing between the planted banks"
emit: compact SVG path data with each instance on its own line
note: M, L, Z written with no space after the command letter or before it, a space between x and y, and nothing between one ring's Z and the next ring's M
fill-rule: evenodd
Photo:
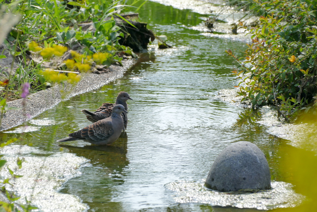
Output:
M61 102L27 128L1 132L1 142L23 138L1 150L13 169L17 156L27 164L16 169L24 177L12 189L41 211L252 211L298 205L304 197L281 169L281 158L294 147L257 123L260 111L217 97L217 91L237 85L224 51L242 55L245 42L204 36L195 27L206 15L190 10L147 2L139 13L173 48L151 44L123 78ZM81 109L114 102L120 91L133 98L126 135L111 146L55 142L90 124ZM237 141L250 141L264 152L273 190L233 195L204 188L217 155Z

